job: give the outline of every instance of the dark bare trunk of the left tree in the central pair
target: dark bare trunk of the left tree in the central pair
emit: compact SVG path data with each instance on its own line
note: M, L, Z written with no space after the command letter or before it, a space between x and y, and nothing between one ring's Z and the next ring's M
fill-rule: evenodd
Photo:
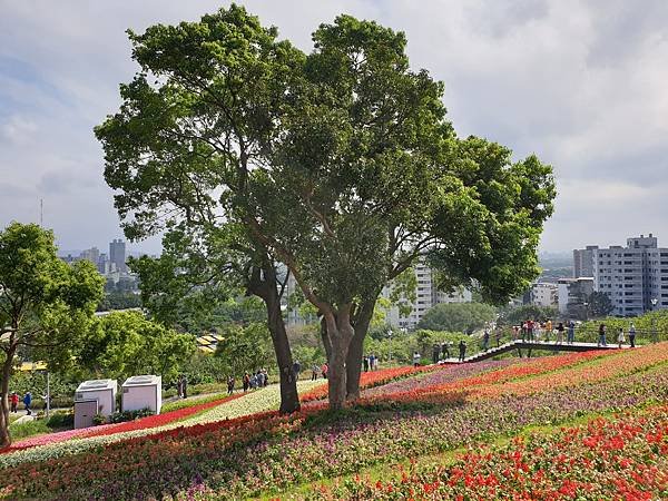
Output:
M267 325L272 335L276 363L278 364L279 412L283 414L296 412L301 407L297 381L292 369L292 352L281 311L281 294L277 289L276 269L273 264L267 261L262 267L262 274L259 268L253 271L248 291L262 298L267 308Z

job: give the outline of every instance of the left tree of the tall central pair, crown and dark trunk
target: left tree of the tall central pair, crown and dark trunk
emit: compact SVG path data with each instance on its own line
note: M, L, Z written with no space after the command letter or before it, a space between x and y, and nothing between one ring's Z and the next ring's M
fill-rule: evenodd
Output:
M119 112L96 128L126 235L167 230L167 238L176 234L193 243L198 256L175 245L173 263L159 264L168 279L151 281L173 296L232 276L265 302L281 367L281 410L294 411L298 400L281 311L285 282L272 249L250 230L248 175L267 165L283 131L304 55L234 4L198 22L129 35L141 70L121 86ZM167 297L153 291L155 298Z

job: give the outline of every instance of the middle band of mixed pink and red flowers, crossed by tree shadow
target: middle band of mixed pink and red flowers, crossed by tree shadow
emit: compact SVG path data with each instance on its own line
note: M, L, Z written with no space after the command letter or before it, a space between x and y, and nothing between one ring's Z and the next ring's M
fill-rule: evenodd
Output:
M573 381L570 387L531 396L507 394L399 413L353 410L336 421L327 421L326 414L312 421L317 409L293 416L265 412L135 438L99 452L19 464L3 471L0 489L10 498L163 499L194 491L203 491L197 495L206 499L254 497L528 425L665 400L666 387L664 364L597 384ZM27 478L30 482L22 481Z

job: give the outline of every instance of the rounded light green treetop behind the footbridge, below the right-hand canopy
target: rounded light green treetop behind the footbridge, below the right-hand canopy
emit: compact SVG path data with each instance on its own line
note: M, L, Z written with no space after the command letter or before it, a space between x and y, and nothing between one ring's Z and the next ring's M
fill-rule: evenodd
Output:
M443 303L430 308L419 328L471 333L495 318L497 308L483 303Z

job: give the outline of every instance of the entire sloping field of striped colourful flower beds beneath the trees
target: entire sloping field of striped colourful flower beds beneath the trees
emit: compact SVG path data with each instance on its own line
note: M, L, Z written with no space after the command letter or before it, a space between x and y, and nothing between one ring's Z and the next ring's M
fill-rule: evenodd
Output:
M390 383L370 383L373 387L363 392L361 404L341 413L323 412L324 403L312 402L301 413L282 416L275 411L277 391L266 389L178 423L3 454L0 499L572 499L573 492L579 499L665 497L665 479L651 468L666 466L668 448L666 343L390 375ZM302 386L310 389L314 386ZM592 421L591 432L570 426L481 449L481 443L521 436L530 428L568 426L601 413L606 418ZM628 423L639 431L630 435L622 426ZM584 433L596 438L588 443L598 449L581 445L578 438L587 438ZM573 436L572 443L564 436ZM426 468L416 462L412 470L397 470L396 478L383 477L380 485L365 473L461 448L470 448L468 455L453 464ZM612 448L608 456L606 448ZM517 454L523 460L515 464ZM579 466L588 458L596 468ZM627 471L619 458L633 468ZM559 471L561 464L571 469ZM649 477L655 483L642 480ZM324 479L334 480L322 487Z

